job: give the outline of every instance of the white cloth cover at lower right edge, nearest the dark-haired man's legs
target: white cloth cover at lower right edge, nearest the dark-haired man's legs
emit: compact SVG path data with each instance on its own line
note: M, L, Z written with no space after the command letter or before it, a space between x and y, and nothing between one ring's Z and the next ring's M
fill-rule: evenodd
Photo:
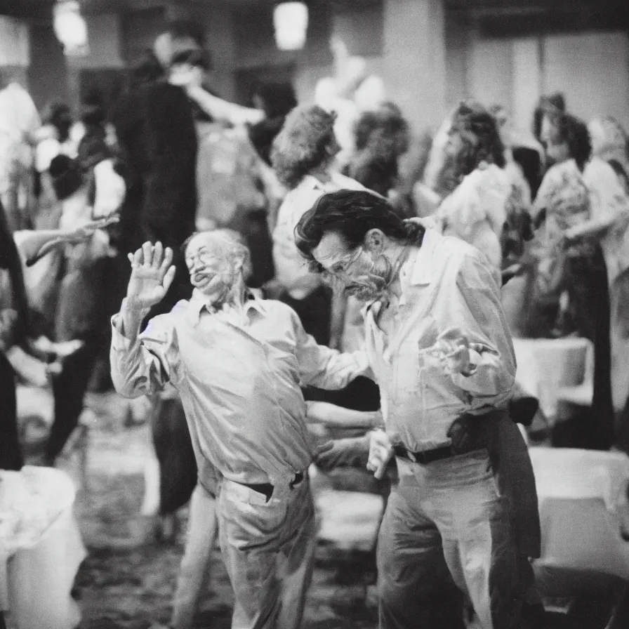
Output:
M569 448L529 449L539 501L545 566L629 579L626 489L629 457Z

